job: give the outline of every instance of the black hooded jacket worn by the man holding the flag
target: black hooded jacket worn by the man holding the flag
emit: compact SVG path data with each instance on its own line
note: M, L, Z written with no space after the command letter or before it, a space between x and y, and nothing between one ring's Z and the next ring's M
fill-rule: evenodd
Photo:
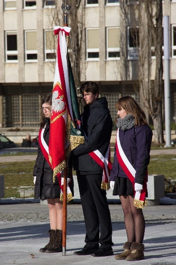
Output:
M111 132L112 119L107 107L107 100L105 97L98 98L91 105L84 107L82 114L83 130L87 139L85 143L79 145L72 152L74 154L74 169L81 174L99 174L103 169L93 158L89 155L98 149L104 156L107 152Z

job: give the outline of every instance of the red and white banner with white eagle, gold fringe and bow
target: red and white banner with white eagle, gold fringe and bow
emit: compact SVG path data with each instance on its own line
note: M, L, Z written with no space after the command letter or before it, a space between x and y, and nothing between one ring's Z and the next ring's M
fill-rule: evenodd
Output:
M61 171L66 168L67 148L66 126L68 113L72 119L70 85L67 64L67 39L71 28L55 26L54 34L58 34L57 58L52 90L52 105L50 118L49 160L55 176L61 183ZM61 186L61 189L63 187Z

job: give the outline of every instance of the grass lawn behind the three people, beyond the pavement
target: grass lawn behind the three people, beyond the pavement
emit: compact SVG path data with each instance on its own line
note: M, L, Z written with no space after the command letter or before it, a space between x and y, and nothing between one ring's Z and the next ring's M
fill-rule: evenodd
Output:
M175 160L176 155L168 154L151 156L151 161L148 167L149 175L164 175L166 192L176 192ZM20 198L20 193L18 192L19 189L34 188L34 165L35 161L0 163L0 175L5 176L5 198ZM73 172L73 174L75 174L75 172Z

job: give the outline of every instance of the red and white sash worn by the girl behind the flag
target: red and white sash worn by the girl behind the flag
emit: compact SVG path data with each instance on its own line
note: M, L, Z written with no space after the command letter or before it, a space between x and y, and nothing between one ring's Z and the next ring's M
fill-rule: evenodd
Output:
M49 166L53 170L52 164L49 161L49 148L48 148L48 145L46 144L45 139L43 137L44 130L45 130L45 127L43 129L39 130L39 144L40 144L40 148L42 150L42 153L43 153L46 161L48 162ZM57 179L58 179L58 183L60 184L60 188L61 188L60 199L63 200L64 186L61 185L61 172L57 174ZM70 201L72 199L73 199L72 192L70 190L69 184L67 183L67 201Z

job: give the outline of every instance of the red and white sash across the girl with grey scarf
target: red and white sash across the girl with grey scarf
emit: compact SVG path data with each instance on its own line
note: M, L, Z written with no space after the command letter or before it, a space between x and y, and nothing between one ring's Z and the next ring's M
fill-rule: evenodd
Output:
M116 156L118 158L119 164L121 165L127 177L132 182L133 190L134 190L134 179L135 179L136 170L133 168L133 166L129 162L127 156L125 155L122 149L120 138L119 138L119 128L116 131L115 147L116 147ZM146 205L145 194L146 194L147 177L148 177L148 174L146 174L144 182L143 182L143 190L141 192L135 192L134 190L134 206L137 208L143 208L144 205Z

